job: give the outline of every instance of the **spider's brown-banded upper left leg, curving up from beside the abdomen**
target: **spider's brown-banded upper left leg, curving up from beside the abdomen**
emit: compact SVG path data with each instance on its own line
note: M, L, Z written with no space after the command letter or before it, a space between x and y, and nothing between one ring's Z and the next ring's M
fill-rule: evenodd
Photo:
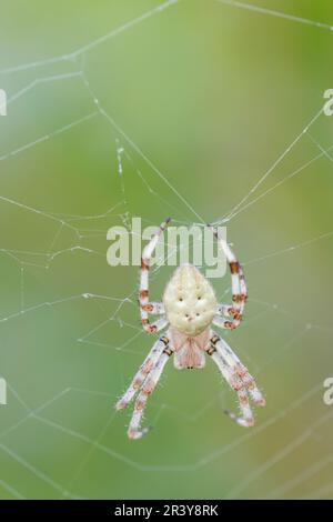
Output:
M167 319L160 319L154 323L150 323L149 314L150 313L158 313L163 314L163 304L162 303L151 303L149 301L149 268L150 268L150 259L157 244L159 242L160 235L165 229L170 221L168 218L163 223L160 224L158 232L152 237L150 242L144 247L142 252L141 259L141 275L140 275L140 291L139 291L139 305L140 305L140 313L141 313L141 323L143 330L147 333L155 333L157 331L165 328L168 324Z

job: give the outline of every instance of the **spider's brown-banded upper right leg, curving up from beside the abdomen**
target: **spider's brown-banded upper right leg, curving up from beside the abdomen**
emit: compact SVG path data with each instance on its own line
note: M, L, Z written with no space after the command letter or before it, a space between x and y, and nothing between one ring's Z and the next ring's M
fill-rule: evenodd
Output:
M226 330L234 330L241 323L248 299L245 278L242 267L240 265L226 241L222 238L219 238L218 231L213 227L210 228L212 229L229 262L232 287L232 304L219 304L218 314L213 319L213 324ZM230 319L223 319L224 317Z

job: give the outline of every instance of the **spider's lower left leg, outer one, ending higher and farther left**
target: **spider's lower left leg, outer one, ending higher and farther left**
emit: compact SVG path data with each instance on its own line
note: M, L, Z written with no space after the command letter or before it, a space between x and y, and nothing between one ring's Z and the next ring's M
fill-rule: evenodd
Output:
M131 402L135 393L141 388L143 381L149 375L151 370L157 364L158 360L160 359L163 350L167 350L169 345L169 339L162 335L152 347L151 351L144 359L143 363L141 364L139 371L135 373L131 384L129 385L128 390L121 396L121 399L117 402L115 409L123 410L127 405Z

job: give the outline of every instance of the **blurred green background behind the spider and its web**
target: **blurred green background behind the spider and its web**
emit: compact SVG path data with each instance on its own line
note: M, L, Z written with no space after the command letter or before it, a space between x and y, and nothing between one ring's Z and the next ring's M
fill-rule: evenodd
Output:
M266 395L255 426L223 415L235 396L211 361L167 367L143 440L127 439L131 409L113 411L153 339L140 330L138 269L107 264L108 229L218 220L333 88L326 27L214 0L160 3L1 2L0 88L13 99L0 118L0 496L332 498L332 118L249 201L281 185L228 223L250 299L225 339ZM255 6L333 24L330 0ZM153 299L170 273L154 274ZM222 299L229 275L213 283Z

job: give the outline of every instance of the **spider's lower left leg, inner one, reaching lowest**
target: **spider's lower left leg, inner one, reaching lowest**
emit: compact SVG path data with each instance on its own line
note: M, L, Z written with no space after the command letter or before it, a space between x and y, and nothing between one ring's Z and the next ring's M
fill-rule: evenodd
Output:
M152 368L143 383L143 387L135 401L134 411L128 429L128 435L130 439L141 439L151 429L151 426L140 428L144 406L147 404L149 395L155 389L162 375L163 369L172 353L172 349L167 347L164 348L162 354L160 355L160 359L155 362L155 365Z

